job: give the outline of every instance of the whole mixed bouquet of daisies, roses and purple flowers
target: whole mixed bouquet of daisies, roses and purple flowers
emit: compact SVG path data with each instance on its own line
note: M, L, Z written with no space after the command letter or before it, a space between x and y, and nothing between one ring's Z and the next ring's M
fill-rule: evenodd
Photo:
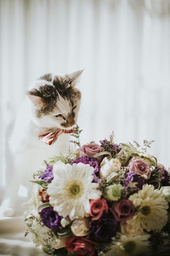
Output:
M51 157L34 173L24 212L36 247L50 255L169 255L170 173L151 142L100 141Z

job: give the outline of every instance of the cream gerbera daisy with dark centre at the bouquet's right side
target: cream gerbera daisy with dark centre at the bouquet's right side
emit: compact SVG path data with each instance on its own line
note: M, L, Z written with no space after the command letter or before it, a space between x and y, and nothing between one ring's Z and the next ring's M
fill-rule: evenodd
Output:
M138 193L130 195L129 200L137 208L133 218L128 224L138 228L142 226L147 231L160 232L167 223L167 201L158 189L153 185L145 184Z

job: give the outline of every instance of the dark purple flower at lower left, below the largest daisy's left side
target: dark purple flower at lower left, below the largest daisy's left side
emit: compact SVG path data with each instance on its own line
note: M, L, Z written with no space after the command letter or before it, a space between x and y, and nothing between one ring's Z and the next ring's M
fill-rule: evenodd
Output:
M60 217L51 206L42 209L40 217L44 225L53 230L57 230L61 226L60 221L62 217Z

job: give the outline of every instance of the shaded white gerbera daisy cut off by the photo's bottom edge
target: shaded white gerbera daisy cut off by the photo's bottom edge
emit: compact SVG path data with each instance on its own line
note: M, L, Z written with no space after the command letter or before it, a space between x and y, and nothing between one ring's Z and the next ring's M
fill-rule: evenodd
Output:
M113 239L111 250L106 253L106 256L136 256L149 255L150 235L144 234L140 236L123 235L119 233L119 240Z

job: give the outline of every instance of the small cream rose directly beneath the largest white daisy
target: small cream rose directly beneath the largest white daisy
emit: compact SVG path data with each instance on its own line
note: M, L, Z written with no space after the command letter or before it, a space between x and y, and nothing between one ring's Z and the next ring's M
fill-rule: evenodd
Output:
M88 233L88 218L75 219L71 224L71 231L75 236L86 236Z

